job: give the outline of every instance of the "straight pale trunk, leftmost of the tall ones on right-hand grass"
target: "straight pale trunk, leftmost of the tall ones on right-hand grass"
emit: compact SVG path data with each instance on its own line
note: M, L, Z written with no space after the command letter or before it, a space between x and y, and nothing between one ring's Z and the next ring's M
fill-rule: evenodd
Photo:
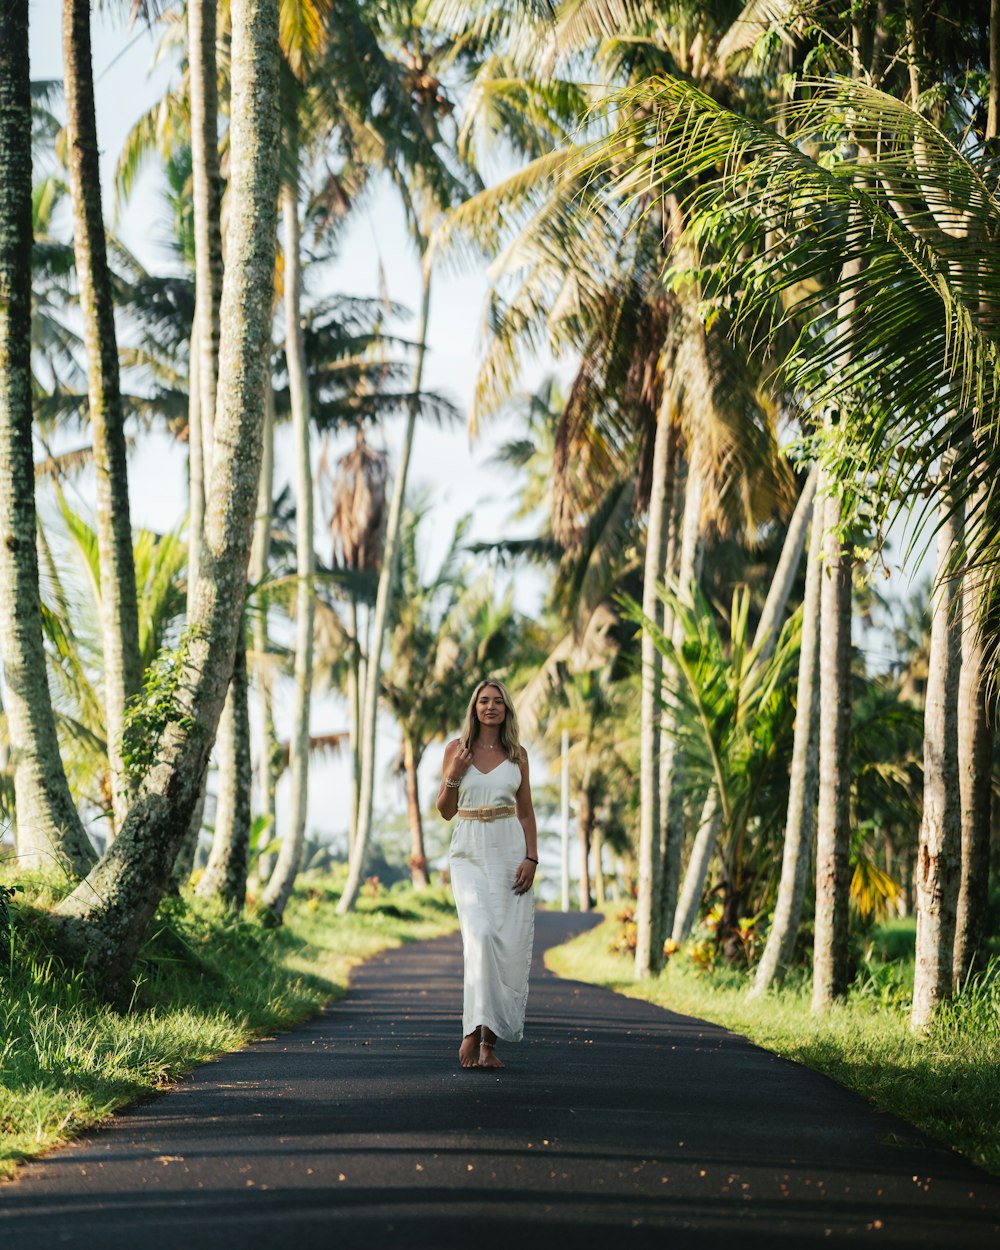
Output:
M675 428L670 405L660 404L656 436L652 444L652 485L646 522L646 555L642 568L642 612L656 620L656 588L664 578L666 530L671 500L668 499L674 462ZM660 681L662 660L651 632L642 630L642 689L639 711L639 894L635 905L635 975L649 976L662 964L660 899L662 861L660 858Z

